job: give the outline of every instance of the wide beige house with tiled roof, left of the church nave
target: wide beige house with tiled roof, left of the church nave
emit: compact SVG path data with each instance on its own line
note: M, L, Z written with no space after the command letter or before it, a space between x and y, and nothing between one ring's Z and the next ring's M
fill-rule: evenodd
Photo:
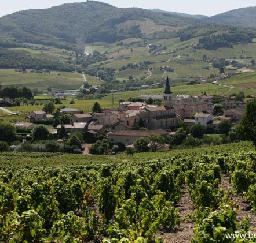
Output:
M108 113L93 113L92 119L97 120L103 126L111 126L120 121L124 114L120 111L111 111Z

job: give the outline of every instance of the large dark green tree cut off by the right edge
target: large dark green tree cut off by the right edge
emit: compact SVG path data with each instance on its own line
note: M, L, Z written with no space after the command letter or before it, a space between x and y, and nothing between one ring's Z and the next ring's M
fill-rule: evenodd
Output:
M246 113L238 126L236 132L245 140L253 141L256 146L256 98L246 104Z

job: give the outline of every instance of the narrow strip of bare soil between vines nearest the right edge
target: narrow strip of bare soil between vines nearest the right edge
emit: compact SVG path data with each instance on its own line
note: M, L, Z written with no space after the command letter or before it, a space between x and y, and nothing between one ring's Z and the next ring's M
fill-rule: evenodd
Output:
M226 192L229 188L232 188L232 199L239 205L239 210L237 211L237 220L240 222L244 217L249 216L251 218L251 233L256 233L256 215L251 209L250 204L248 204L241 195L237 195L228 180L228 175L221 175L220 188L223 188L224 192Z

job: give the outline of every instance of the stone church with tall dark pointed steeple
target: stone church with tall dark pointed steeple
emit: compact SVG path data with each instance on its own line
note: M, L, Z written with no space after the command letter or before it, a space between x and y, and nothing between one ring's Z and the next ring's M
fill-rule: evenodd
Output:
M166 78L166 85L163 93L163 106L145 106L140 110L140 119L149 130L170 129L177 125L180 116L176 114L173 107L172 92L169 78Z

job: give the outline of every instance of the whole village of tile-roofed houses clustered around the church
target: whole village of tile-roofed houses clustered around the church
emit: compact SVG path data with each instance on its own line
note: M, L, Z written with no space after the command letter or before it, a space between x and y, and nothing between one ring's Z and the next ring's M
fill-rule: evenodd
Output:
M147 96L147 97L146 97ZM149 133L160 136L170 136L170 128L177 126L183 120L188 126L202 124L211 132L218 133L221 121L228 120L235 125L244 114L245 104L240 101L221 102L224 115L215 119L213 116L213 96L173 96L168 77L163 95L144 95L144 98L162 99L163 106L146 104L144 102L120 102L118 109L109 108L102 113L82 113L74 108L64 108L62 114L71 114L70 124L64 127L68 133L82 132L88 140L96 139L100 135L108 136L110 143L131 145L139 137L147 137ZM195 114L195 119L191 119ZM17 127L32 129L35 122L53 119L53 115L45 111L32 111L27 119L30 122L19 122ZM133 130L134 122L142 124L148 130ZM61 129L61 125L57 126ZM234 127L232 127L234 129Z

